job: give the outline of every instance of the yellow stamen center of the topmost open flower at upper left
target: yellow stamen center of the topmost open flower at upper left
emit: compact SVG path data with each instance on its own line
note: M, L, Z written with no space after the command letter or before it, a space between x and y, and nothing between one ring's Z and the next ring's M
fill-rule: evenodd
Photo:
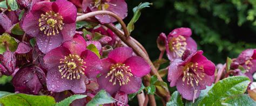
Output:
M47 33L47 36L58 34L59 30L62 30L64 25L63 17L53 11L45 12L45 15L42 14L38 22L40 30L44 31L44 34Z

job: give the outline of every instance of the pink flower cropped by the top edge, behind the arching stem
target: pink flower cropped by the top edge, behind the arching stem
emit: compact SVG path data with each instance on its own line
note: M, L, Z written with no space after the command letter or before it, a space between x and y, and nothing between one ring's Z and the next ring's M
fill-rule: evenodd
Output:
M83 10L87 12L98 10L111 11L122 19L127 16L127 4L124 0L84 0ZM116 18L109 15L97 15L95 17L101 23L113 23L117 21Z

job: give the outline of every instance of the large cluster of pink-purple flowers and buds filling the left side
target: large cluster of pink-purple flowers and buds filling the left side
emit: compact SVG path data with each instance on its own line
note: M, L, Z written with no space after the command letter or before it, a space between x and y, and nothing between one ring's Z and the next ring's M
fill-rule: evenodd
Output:
M125 18L124 0L25 0L18 4L25 10L20 21L21 10L5 11L0 18L1 34L9 33L18 42L16 51L10 51L8 43L3 42L6 51L0 64L3 75L13 76L17 93L51 95L58 102L72 94L92 98L105 89L127 104L127 94L136 93L142 85L141 77L149 74L150 66L145 60L136 56L132 48L120 44L116 34L106 27L87 29L89 33L84 36L81 30L76 31L78 9L84 13L107 10ZM117 21L108 15L97 15L94 19L102 24ZM16 23L25 32L22 40L10 33ZM95 39L97 35L100 37ZM29 43L32 38L36 41L34 47ZM96 52L89 50L89 46L96 47ZM79 103L89 100L85 98Z

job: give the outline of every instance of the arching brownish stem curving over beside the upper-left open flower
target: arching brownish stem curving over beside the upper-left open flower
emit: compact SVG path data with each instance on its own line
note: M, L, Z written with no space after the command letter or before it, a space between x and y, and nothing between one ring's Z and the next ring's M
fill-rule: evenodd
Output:
M84 20L86 18L97 16L97 15L110 15L110 16L116 18L117 21L121 24L121 26L122 26L122 28L124 30L125 37L129 36L129 32L128 32L128 30L126 28L126 25L123 22L122 18L118 17L115 13L110 12L110 11L99 10L99 11L93 11L93 12L85 13L82 16L78 16L76 22L79 22L79 21Z

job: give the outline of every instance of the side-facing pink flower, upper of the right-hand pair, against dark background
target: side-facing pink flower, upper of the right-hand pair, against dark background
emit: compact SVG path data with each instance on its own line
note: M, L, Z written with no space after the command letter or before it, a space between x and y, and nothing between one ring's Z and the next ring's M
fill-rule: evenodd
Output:
M190 37L191 34L191 29L186 27L174 29L169 33L165 47L170 61L180 59L185 50L190 50L191 53L197 51L197 43Z

